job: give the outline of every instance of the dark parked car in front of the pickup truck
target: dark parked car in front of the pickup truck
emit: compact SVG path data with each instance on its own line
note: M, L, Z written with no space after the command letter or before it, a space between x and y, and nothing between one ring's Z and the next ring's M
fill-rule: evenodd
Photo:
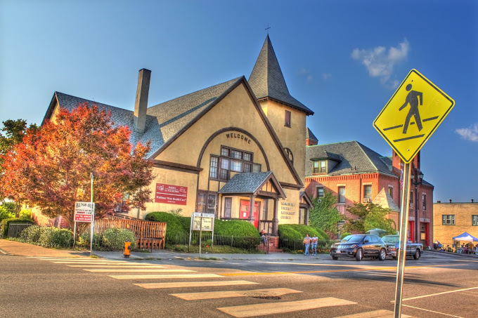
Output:
M364 257L385 260L387 246L377 235L351 234L330 246L330 256L332 256L332 260L337 260L340 257L354 257L358 261Z

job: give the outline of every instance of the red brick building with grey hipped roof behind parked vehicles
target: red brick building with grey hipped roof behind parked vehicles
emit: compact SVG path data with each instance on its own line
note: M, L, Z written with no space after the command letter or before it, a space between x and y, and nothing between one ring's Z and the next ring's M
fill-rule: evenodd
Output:
M317 138L308 129L306 133L306 193L323 196L328 190L337 195L337 209L350 217L347 207L354 202L374 202L390 208L389 218L399 226L401 182L403 164L393 152L385 157L357 141L314 145ZM433 185L418 182L420 153L413 161L408 218L408 237L426 246L433 237ZM418 220L418 223L415 221Z

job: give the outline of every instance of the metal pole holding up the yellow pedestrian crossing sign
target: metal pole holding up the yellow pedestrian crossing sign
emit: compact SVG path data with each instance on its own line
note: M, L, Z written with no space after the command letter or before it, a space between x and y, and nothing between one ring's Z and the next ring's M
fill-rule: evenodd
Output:
M401 298L403 291L403 273L405 271L406 244L408 232L408 206L410 199L411 164L405 164L403 174L403 195L401 196L399 263L396 267L396 290L394 318L401 317ZM415 220L416 221L416 220Z

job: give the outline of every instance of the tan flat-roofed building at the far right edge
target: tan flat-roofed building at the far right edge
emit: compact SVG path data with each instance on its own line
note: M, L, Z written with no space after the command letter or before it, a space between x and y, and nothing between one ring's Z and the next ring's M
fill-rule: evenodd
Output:
M433 241L451 246L452 238L463 232L478 237L478 203L450 200L433 204Z

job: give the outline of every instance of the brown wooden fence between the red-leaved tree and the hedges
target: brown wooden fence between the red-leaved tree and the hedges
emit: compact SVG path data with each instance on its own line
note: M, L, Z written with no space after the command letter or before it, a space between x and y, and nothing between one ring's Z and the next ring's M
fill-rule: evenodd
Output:
M166 223L143 220L96 220L95 232L103 233L111 227L120 227L134 232L138 249L164 249Z

